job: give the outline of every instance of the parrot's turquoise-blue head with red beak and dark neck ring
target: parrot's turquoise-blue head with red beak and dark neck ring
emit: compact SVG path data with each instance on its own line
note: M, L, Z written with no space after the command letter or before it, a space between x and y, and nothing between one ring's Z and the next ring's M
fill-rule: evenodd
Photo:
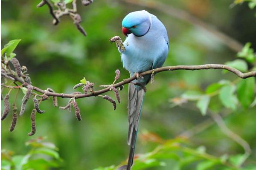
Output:
M151 17L147 11L134 11L126 15L122 20L122 32L125 36L134 34L137 37L141 37L148 33L150 25Z

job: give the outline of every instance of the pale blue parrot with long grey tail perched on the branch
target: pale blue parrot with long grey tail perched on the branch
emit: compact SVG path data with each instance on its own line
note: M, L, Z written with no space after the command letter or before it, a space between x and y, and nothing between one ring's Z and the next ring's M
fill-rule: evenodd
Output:
M130 146L130 153L128 165L119 168L119 170L130 170L134 159L138 125L145 94L142 87L151 78L150 75L140 77L140 73L163 65L169 52L169 40L163 23L145 10L134 11L126 15L122 21L122 32L127 37L123 43L125 51L121 51L119 48L123 67L129 71L131 77L137 76L137 79L129 84L128 145Z

